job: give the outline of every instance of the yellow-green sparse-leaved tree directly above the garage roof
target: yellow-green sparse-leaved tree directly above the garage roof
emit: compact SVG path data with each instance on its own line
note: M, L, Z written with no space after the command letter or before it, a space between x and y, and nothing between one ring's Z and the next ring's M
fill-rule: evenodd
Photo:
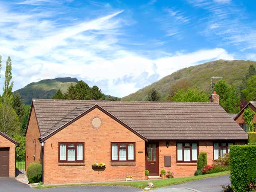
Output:
M0 131L12 137L20 134L20 121L9 104L0 103Z

